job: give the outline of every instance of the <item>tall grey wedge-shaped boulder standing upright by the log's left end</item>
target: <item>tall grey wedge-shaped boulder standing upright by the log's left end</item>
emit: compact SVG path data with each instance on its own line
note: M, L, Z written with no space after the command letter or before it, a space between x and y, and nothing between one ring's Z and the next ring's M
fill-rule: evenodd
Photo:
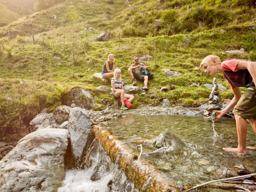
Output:
M88 134L91 130L91 118L85 109L75 107L69 113L67 129L70 133L72 155L75 165L79 166L85 153Z

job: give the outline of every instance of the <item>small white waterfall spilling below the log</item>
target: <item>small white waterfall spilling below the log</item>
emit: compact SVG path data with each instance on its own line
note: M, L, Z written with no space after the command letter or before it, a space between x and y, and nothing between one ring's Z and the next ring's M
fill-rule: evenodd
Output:
M101 145L98 146L91 154L90 167L66 171L63 186L58 192L138 192L117 165L111 162Z

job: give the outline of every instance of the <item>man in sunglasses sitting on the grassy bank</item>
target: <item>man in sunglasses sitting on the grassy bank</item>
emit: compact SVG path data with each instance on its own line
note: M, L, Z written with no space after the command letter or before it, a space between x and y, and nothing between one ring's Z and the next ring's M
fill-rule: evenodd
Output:
M143 67L143 69L148 69L148 66L146 66L144 63L139 62L139 58L138 57L133 57L134 59L134 64L131 64L131 66L128 69L128 73L129 75L132 77L133 80L133 86L135 86L137 84L136 79L137 80L142 80L144 81L144 87L142 87L142 89L144 89L145 91L148 91L148 79L149 76L148 75L142 75L141 74L141 67Z

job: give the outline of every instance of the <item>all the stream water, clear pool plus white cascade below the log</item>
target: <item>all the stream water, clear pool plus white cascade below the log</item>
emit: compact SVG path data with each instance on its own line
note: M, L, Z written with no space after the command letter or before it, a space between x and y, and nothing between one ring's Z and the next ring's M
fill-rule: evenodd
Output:
M195 186L203 182L235 176L232 172L236 173L243 166L251 173L256 172L256 150L248 150L248 155L235 155L222 149L223 147L237 146L235 119L219 120L213 124L211 119L198 116L128 114L124 118L107 122L106 128L138 154L141 153L141 148L132 141L154 139L162 132L174 133L186 144L183 151L176 151L172 154L149 155L155 149L142 144L140 158L158 167L166 177L180 188L184 185ZM256 134L251 125L248 126L247 146L256 146ZM63 187L60 187L58 192L108 192L107 183L118 181L120 178L122 178L122 182L118 181L113 185L116 186L116 189L112 188L112 192L136 191L133 184L129 183L126 177L109 162L110 159L102 151L103 149L101 151L98 149L98 156L93 157L91 168L66 171ZM100 161L99 154L101 160L107 160L107 162ZM91 181L90 176L93 167L100 164L105 167L105 171L102 169L101 179ZM106 168L108 166L111 168ZM213 191L213 189L203 189L203 191Z

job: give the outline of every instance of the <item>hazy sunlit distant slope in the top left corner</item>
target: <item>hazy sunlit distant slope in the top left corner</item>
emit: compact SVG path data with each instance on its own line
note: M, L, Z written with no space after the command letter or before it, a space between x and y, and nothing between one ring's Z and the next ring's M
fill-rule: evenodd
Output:
M0 0L0 26L34 12L37 0Z

